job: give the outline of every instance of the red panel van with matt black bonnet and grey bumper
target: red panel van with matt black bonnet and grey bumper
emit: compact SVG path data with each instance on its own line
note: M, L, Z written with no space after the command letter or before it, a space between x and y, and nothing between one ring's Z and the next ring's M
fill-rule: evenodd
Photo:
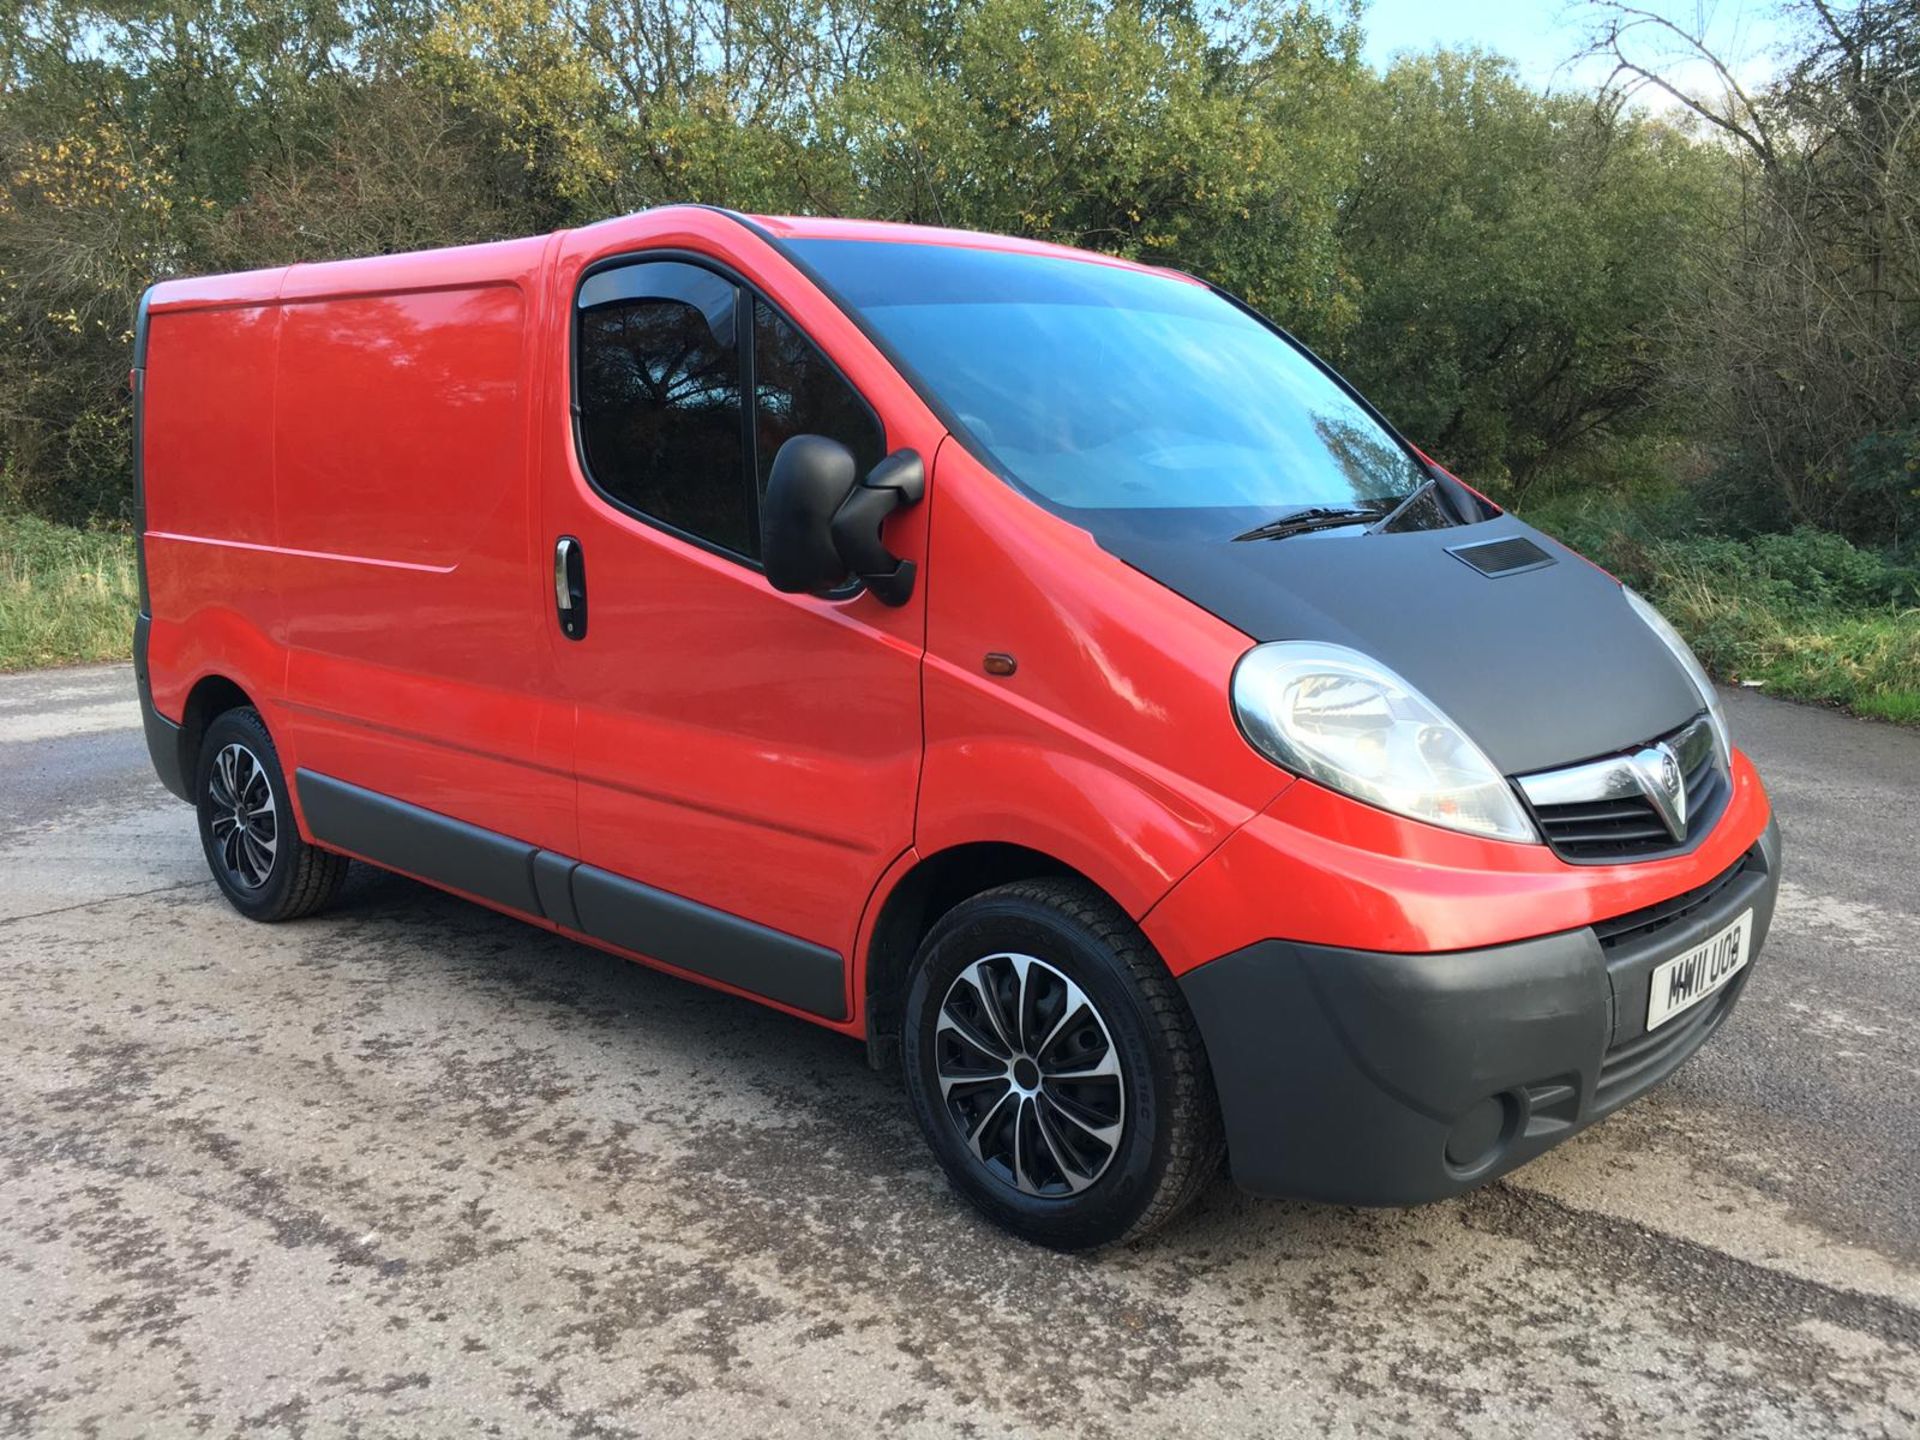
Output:
M1054 246L670 207L148 292L146 735L349 858L899 1064L1054 1246L1413 1204L1682 1064L1780 883L1640 597L1281 328Z

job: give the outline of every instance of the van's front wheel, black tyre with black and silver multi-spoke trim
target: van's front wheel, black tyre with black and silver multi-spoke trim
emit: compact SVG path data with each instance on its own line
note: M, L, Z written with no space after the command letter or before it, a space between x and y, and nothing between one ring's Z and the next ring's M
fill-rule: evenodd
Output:
M914 960L906 1092L987 1217L1056 1250L1131 1240L1221 1165L1206 1048L1165 964L1092 885L975 895Z

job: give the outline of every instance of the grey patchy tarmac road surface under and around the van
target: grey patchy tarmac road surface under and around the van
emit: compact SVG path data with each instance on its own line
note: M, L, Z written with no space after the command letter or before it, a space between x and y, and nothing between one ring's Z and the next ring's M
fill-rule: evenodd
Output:
M0 1430L1920 1434L1920 733L1728 703L1788 879L1667 1087L1062 1258L852 1043L371 872L240 920L129 670L0 678Z

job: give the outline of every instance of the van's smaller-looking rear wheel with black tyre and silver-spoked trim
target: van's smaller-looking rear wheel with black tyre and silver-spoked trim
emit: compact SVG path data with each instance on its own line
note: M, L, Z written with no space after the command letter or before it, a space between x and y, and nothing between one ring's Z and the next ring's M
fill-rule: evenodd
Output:
M194 795L207 870L248 920L311 916L340 893L348 858L300 837L259 710L227 710L207 726Z

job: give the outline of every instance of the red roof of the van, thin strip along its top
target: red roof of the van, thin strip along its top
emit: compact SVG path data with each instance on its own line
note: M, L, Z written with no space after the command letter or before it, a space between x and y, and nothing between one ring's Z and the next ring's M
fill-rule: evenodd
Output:
M1091 250L1048 244L1044 240L1021 240L1008 234L952 230L931 225L843 221L814 215L737 215L733 211L720 211L712 205L660 205L653 211L641 213L659 215L672 209L699 209L707 215L728 215L730 219L758 228L776 240L866 240L918 246L968 246L973 250L1079 259L1094 265L1116 265L1129 271L1150 271L1156 275L1169 273L1156 271L1150 265L1117 259L1114 255L1100 255ZM634 215L620 215L582 228L597 230L601 227L620 227L632 223L634 219ZM453 246L447 250L415 250L399 255L328 259L280 265L263 271L238 271L232 275L204 275L180 280L163 280L148 294L148 303L154 309L198 309L207 305L255 305L275 300L321 300L326 296L386 288L482 284L486 280L497 280L503 275L513 275L515 271L534 269L551 240L551 234L536 234L522 240L493 240L476 246Z

